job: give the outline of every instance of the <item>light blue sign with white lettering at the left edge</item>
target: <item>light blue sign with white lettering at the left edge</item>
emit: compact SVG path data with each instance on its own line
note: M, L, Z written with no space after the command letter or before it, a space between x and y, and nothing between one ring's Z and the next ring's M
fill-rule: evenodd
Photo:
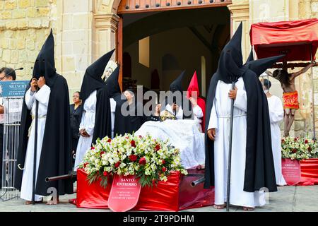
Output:
M23 97L30 81L1 81L0 97Z

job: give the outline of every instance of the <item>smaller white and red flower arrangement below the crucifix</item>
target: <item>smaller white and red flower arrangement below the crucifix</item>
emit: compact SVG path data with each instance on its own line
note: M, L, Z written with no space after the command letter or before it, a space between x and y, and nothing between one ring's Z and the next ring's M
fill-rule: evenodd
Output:
M291 160L307 160L318 157L318 144L308 137L291 137L281 140L282 157Z

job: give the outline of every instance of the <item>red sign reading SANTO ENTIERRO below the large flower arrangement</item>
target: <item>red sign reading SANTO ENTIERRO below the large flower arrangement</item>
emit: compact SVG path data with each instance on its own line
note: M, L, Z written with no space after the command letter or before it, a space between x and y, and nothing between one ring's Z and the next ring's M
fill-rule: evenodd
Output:
M126 212L134 208L139 200L141 184L134 176L114 176L108 198L108 207L114 212Z

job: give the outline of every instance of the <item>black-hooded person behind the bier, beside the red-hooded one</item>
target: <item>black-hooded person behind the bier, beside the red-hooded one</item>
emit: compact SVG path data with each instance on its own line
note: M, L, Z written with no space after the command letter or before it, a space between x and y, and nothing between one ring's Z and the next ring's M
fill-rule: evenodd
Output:
M170 84L171 94L165 98L165 107L162 110L167 110L175 115L177 119L187 119L192 118L192 105L187 97L183 94L182 81L185 76L185 71L182 73ZM177 105L174 109L173 105ZM191 114L185 114L184 108L189 109Z

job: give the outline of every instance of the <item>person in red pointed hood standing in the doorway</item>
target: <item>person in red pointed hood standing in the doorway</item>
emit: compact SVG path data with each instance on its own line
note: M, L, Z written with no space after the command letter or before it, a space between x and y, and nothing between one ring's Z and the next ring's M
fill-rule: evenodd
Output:
M199 84L198 84L198 78L196 77L196 71L194 71L194 75L192 76L192 79L190 81L188 90L187 90L187 98L193 98L194 103L199 106L192 106L193 112L194 112L194 118L199 120L201 124L201 129L204 131L204 122L206 117L206 102L204 99L200 97L200 91L199 91ZM192 100L193 100L192 99ZM193 104L192 104L193 105Z

